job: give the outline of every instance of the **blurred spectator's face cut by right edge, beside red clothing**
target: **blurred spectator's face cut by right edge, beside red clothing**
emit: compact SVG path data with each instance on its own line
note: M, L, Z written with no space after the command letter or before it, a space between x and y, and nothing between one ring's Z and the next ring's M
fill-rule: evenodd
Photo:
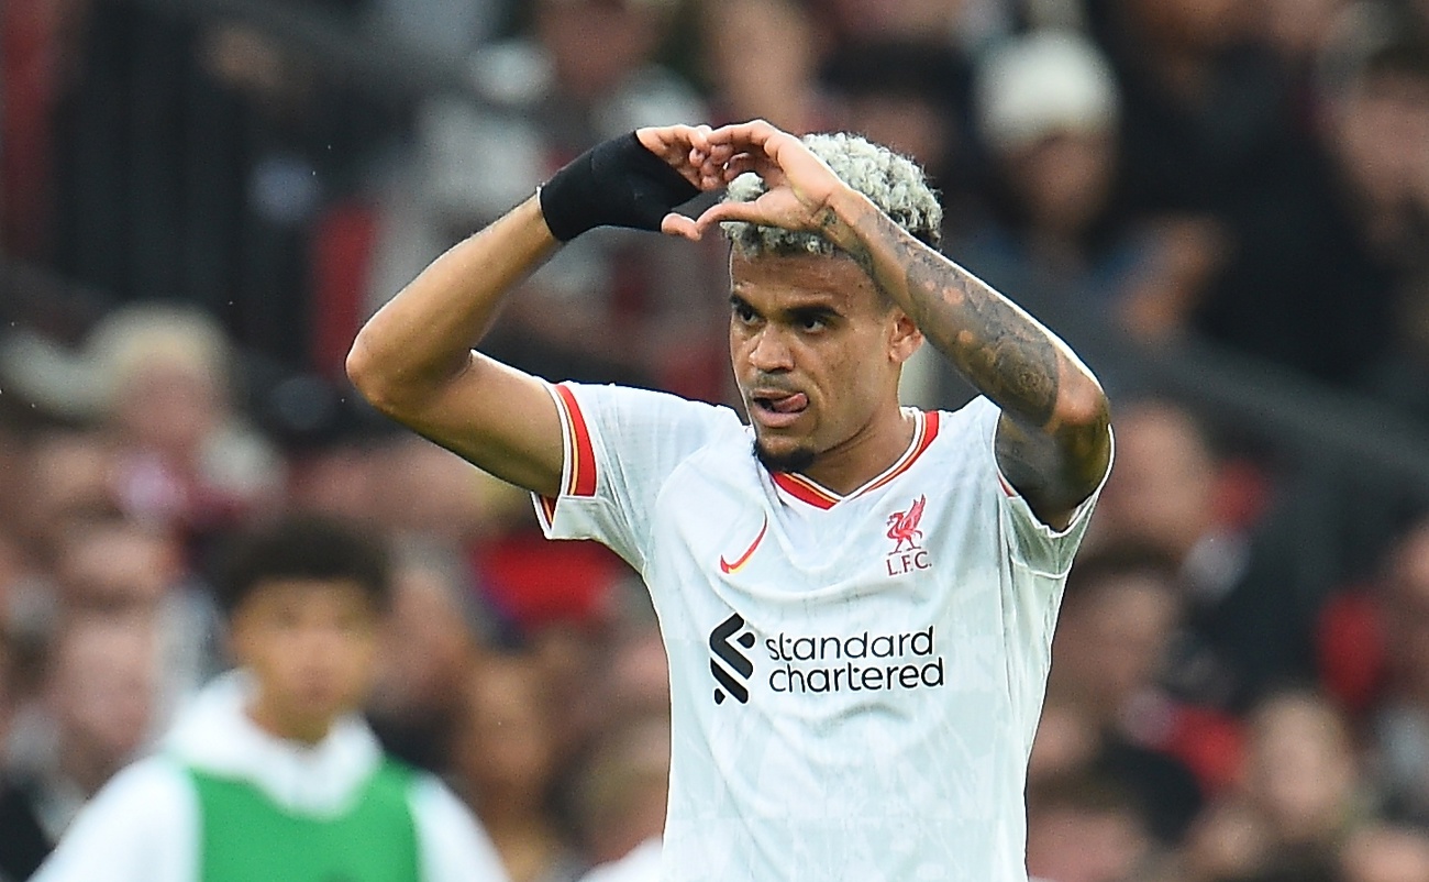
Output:
M1409 696L1429 702L1429 523L1400 542L1385 588L1392 676Z

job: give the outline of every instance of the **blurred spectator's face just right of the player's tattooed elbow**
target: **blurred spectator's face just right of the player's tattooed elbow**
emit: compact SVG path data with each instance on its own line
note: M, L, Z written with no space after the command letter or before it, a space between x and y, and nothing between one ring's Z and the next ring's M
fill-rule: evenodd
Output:
M1215 520L1216 463L1196 425L1170 405L1126 407L1116 420L1116 467L1097 505L1109 536L1183 558Z

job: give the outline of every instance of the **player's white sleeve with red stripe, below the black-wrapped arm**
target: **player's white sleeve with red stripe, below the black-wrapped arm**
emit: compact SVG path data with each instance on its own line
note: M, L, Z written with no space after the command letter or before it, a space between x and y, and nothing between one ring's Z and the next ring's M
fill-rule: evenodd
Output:
M550 386L566 446L562 492L534 496L547 539L594 539L643 570L652 509L670 475L726 433L729 407L622 386Z

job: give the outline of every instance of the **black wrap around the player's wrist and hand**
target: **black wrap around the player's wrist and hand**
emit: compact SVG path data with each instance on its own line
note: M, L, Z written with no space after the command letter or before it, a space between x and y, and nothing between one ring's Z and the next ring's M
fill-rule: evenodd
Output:
M540 187L540 210L556 239L599 226L659 230L699 187L650 153L634 132L596 144Z

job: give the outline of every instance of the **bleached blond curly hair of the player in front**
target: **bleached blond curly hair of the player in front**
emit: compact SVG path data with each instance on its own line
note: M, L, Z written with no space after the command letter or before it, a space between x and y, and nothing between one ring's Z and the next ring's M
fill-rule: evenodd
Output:
M943 206L917 163L857 134L806 134L800 140L833 169L839 180L873 200L915 239L935 249L942 243ZM740 174L726 189L725 202L755 202L766 190L757 174ZM742 220L720 226L735 250L745 257L835 253L833 243L817 233Z

